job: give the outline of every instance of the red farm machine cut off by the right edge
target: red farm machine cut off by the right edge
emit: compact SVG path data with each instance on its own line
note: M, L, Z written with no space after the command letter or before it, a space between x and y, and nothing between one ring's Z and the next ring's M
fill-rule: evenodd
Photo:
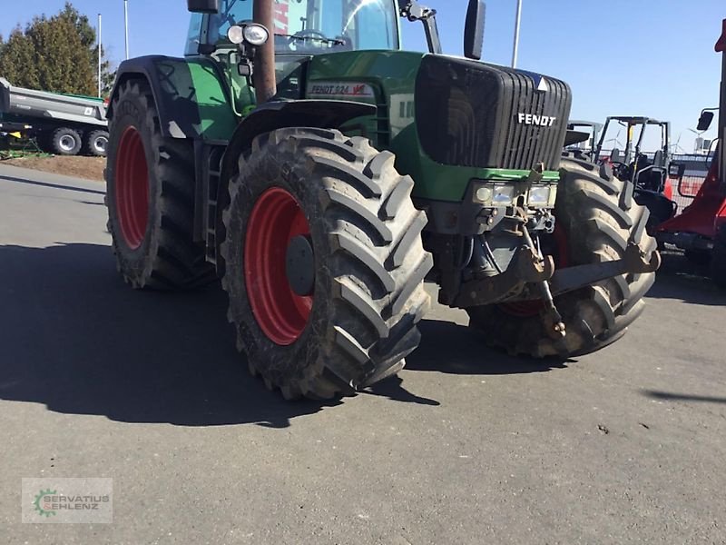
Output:
M690 206L656 230L659 243L672 243L695 260L711 263L713 281L726 288L726 19L715 50L721 53L721 98L718 117L719 144L706 179ZM699 131L709 128L712 110L703 110Z

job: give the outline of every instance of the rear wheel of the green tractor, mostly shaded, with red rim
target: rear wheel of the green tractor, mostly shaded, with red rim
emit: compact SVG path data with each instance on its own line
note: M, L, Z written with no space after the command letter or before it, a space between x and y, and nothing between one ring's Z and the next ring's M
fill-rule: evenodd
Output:
M119 272L134 288L189 289L214 271L192 239L191 142L164 138L152 91L122 84L113 100L106 162L108 230Z

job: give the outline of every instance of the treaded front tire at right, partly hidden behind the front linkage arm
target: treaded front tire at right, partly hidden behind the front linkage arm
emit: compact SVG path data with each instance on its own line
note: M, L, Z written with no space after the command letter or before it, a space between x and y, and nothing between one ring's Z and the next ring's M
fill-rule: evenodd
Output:
M559 266L615 261L628 243L650 254L656 242L646 233L648 210L633 201L633 184L609 169L563 159L554 213ZM535 357L576 356L619 339L643 312L643 295L655 273L624 274L556 297L567 335L558 338L532 306L486 305L469 311L471 325L492 346ZM542 308L542 307L540 307Z

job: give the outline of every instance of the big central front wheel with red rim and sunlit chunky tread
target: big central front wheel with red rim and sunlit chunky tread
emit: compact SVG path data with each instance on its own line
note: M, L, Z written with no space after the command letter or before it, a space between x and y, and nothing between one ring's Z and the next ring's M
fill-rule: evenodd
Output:
M330 399L400 370L417 348L432 257L412 180L363 138L258 136L223 213L228 318L250 372L286 399Z

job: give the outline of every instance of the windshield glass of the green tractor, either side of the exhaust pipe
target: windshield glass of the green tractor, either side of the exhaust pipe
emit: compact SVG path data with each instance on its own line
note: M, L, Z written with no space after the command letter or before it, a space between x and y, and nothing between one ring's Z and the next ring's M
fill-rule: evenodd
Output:
M275 51L316 54L397 49L395 0L274 0ZM252 0L222 0L210 15L208 40L226 45L231 25L252 19Z

